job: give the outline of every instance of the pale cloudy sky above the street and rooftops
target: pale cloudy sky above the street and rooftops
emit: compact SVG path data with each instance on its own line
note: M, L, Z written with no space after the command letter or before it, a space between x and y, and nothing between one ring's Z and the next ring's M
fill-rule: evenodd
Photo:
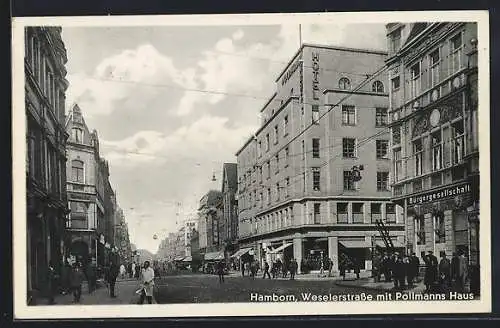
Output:
M301 30L306 43L386 50L383 24ZM300 43L296 24L63 27L62 36L66 109L77 103L97 131L131 242L153 253L220 190L222 164L236 163Z

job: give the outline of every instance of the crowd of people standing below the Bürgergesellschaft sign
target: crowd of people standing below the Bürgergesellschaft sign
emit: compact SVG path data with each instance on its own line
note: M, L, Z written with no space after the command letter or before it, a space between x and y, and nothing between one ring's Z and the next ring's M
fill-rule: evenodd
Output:
M463 292L468 277L468 262L463 252L453 253L451 261L445 252L440 253L440 260L428 251L422 252L424 262L423 283L425 291L443 292L456 290ZM372 264L372 276L376 282L381 281L382 275L386 282L393 282L395 289L412 288L419 280L420 259L415 253L405 256L399 253L376 255Z

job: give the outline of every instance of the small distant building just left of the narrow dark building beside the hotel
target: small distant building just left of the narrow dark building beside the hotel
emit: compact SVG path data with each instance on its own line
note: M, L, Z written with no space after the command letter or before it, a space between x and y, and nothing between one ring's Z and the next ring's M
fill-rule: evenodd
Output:
M222 193L210 190L200 200L198 208L198 236L200 253L205 260L212 260L221 253Z

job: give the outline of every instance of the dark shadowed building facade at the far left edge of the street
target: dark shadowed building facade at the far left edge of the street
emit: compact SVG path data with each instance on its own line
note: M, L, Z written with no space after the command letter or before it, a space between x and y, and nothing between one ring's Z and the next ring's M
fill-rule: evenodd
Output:
M40 290L64 249L66 49L59 27L25 28L27 288Z

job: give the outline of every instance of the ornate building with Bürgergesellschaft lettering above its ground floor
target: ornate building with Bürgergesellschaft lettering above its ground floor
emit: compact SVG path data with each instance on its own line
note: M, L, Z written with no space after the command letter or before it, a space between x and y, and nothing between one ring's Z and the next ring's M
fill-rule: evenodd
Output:
M387 25L393 201L408 249L479 265L477 26Z

